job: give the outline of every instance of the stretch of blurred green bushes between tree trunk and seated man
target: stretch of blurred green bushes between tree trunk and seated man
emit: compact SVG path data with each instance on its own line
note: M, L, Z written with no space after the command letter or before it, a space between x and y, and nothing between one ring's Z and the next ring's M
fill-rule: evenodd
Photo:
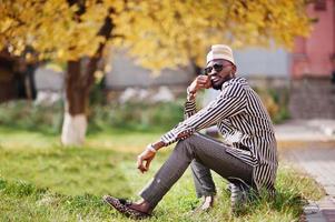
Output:
M132 130L168 130L184 115L181 101L177 102L127 102L91 108L89 132L106 128Z

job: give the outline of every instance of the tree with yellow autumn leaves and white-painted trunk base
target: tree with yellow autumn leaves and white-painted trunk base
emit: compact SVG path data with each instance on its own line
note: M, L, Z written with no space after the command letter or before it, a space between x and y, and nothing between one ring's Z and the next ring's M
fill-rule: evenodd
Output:
M214 43L290 48L296 36L308 34L305 7L305 0L0 0L0 47L27 60L67 62L61 138L78 144L98 61L109 46L152 70L203 65Z

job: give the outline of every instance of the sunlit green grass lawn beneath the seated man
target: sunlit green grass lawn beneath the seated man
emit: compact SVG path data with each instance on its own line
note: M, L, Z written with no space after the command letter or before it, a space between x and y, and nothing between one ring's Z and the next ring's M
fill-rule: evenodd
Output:
M130 221L101 195L136 200L173 149L159 152L148 173L137 171L137 154L160 134L110 130L89 135L82 148L62 148L58 137L0 127L0 221ZM324 194L312 179L280 164L276 200L257 200L234 216L226 182L214 178L218 201L209 213L188 214L198 200L187 171L147 221L297 221L303 200Z

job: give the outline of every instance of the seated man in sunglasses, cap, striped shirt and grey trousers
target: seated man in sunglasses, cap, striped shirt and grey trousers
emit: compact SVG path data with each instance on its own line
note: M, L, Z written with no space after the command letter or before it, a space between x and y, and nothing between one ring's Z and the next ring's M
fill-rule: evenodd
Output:
M220 93L197 112L197 91L209 88L220 90ZM249 190L256 193L265 190L274 196L278 163L273 124L257 93L244 78L236 77L229 47L211 47L205 74L197 77L187 88L185 117L138 155L138 169L144 173L160 148L177 142L154 180L141 191L142 200L131 203L106 195L104 200L108 204L134 219L149 216L188 165L191 167L197 195L205 200L199 210L213 206L216 189L210 170L229 181L234 205L246 200ZM214 124L224 143L198 133Z

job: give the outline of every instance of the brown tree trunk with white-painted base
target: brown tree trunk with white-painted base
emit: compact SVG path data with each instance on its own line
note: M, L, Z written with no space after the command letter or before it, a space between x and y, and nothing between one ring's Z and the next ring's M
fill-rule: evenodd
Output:
M112 13L114 9L109 9ZM106 17L98 36L109 39L112 30L110 17ZM87 130L87 112L89 107L89 92L95 81L98 62L102 58L106 42L100 43L97 52L91 58L81 58L68 62L66 78L66 109L61 132L63 145L81 145L85 142Z

